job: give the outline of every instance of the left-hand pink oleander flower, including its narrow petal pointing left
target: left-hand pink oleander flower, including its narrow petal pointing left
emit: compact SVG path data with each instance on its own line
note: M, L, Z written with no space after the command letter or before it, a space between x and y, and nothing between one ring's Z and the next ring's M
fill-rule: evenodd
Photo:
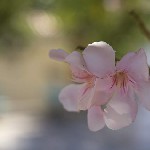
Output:
M90 47L89 45L86 49L91 49ZM111 47L108 47L106 51L111 50ZM113 51L111 53L114 55ZM66 110L87 110L94 104L103 105L107 102L108 94L104 91L97 91L98 77L88 71L83 54L77 51L68 54L59 49L51 50L50 57L68 63L72 72L74 84L66 86L59 94L59 100Z

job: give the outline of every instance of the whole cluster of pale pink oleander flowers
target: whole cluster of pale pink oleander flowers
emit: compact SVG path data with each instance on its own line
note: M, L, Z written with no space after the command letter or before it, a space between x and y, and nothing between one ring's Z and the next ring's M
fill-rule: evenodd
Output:
M74 83L62 89L59 100L68 111L88 110L90 130L128 126L135 120L137 103L150 110L149 68L143 49L115 62L115 51L101 41L89 44L82 53L51 50L50 58L69 64Z

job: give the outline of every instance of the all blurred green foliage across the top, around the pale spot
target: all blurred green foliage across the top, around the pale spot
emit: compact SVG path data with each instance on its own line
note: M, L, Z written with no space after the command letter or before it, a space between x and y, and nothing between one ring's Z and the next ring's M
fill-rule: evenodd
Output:
M102 40L118 51L119 58L147 42L129 12L135 9L143 16L146 12L149 18L148 4L147 0L1 0L0 45L26 42L32 33L25 15L32 10L45 10L61 20L59 27L74 49ZM149 23L149 19L144 21Z

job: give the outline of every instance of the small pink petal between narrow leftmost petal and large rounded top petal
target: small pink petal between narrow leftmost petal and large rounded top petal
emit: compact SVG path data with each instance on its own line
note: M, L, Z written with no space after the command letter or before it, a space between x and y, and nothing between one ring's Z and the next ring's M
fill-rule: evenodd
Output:
M71 54L69 54L65 61L69 63L71 66L78 67L79 69L86 70L86 65L84 58L81 53L74 51Z

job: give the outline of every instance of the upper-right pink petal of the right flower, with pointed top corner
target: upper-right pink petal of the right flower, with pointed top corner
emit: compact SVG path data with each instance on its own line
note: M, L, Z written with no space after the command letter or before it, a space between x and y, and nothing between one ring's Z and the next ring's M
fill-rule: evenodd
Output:
M147 57L143 49L126 54L116 67L117 70L127 70L129 75L137 81L149 79Z

